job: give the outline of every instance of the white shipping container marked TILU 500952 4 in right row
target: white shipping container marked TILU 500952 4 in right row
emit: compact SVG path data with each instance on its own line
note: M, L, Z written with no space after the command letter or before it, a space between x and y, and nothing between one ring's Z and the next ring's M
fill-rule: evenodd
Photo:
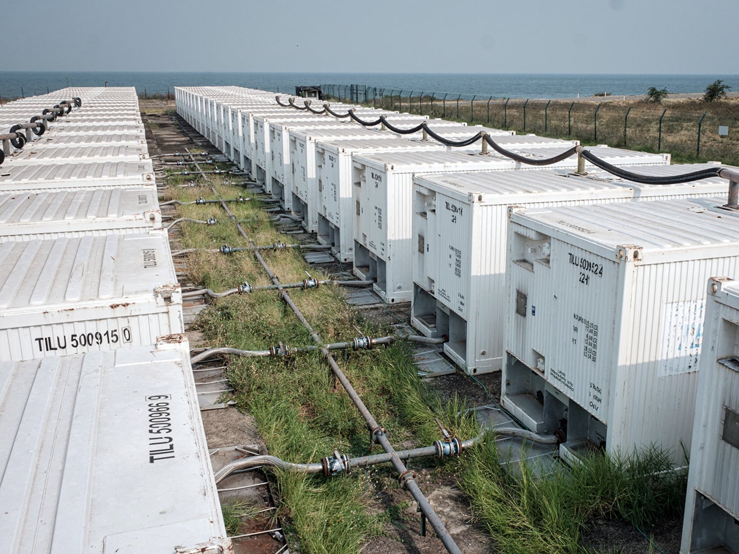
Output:
M534 431L563 428L560 456L656 445L681 462L706 281L739 270L725 203L511 208L501 400Z

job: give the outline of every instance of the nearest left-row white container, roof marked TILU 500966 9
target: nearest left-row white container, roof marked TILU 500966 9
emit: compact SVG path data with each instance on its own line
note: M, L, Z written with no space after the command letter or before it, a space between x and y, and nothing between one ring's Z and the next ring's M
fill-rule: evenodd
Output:
M4 552L231 552L188 343L163 339L0 362Z

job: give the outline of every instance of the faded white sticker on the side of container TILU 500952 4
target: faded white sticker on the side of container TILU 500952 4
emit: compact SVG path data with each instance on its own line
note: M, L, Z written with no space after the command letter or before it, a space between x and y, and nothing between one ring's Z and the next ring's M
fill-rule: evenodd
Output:
M660 376L698 371L704 321L703 300L671 302L664 307Z

